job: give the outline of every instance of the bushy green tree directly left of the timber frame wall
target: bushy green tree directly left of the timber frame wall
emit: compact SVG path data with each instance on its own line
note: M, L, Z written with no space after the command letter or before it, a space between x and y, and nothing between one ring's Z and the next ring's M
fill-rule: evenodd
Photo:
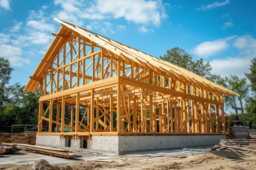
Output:
M38 124L39 89L35 93L23 91L19 83L7 88L8 103L16 124Z

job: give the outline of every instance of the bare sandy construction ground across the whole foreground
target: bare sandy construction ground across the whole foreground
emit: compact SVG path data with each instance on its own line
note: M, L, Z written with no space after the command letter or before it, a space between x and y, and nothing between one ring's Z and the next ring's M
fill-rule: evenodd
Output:
M111 155L72 150L80 158L52 157L25 150L0 155L0 170L252 170L256 153L234 149L183 148ZM48 164L49 163L49 164Z

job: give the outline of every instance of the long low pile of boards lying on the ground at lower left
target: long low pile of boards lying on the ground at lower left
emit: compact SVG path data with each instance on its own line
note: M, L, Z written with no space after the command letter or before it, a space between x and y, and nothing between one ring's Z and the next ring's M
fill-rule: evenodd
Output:
M78 158L81 155L76 155L71 152L71 150L57 149L57 148L47 148L43 146L34 146L29 144L15 144L15 143L2 143L2 146L11 146L14 148L19 148L21 150L27 150L34 153L46 154L54 157L64 157L64 158Z

